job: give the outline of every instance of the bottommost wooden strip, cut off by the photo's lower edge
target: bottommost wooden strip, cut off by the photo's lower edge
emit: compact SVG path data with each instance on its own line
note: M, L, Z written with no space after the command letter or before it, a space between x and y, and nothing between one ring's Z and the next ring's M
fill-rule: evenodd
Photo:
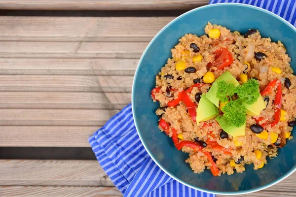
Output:
M3 197L122 197L115 187L2 186Z

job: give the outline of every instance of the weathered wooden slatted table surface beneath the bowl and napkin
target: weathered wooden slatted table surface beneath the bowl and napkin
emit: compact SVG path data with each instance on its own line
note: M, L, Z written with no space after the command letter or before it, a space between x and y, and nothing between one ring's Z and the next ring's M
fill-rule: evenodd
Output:
M163 16L167 10L151 16L119 10L191 9L206 3L0 1L0 9L22 10L0 17L0 196L121 197L94 155L86 156L87 139L131 101L142 52L175 16ZM55 11L36 16L24 9L115 11L104 12L107 17L54 16ZM294 181L296 174L242 197L295 197Z

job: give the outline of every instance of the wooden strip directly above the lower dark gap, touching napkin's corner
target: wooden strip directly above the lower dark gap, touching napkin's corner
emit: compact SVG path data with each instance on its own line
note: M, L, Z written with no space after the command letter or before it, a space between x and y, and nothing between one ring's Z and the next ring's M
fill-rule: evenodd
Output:
M99 126L0 126L0 146L90 147L88 137L98 129Z

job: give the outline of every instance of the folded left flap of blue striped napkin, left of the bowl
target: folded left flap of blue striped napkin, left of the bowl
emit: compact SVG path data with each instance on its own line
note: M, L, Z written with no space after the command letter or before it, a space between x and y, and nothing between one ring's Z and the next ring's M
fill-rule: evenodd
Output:
M107 175L124 194L148 157L135 130L131 105L123 108L89 137L89 143Z

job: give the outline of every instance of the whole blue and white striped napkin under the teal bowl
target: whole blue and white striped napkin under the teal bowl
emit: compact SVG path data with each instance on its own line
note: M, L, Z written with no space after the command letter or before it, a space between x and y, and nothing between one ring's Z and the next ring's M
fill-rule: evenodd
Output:
M296 25L295 0L210 0L268 9ZM137 134L131 104L90 138L97 160L124 197L215 197L175 181L148 156Z

